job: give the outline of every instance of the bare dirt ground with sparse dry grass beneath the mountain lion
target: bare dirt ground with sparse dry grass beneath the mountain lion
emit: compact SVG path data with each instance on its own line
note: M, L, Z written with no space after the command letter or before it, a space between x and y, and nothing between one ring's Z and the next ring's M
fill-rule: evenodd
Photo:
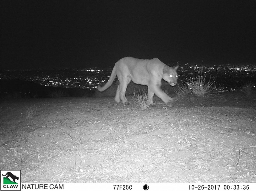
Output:
M0 169L26 183L256 182L255 98L220 93L172 108L155 98L147 109L128 100L1 102Z

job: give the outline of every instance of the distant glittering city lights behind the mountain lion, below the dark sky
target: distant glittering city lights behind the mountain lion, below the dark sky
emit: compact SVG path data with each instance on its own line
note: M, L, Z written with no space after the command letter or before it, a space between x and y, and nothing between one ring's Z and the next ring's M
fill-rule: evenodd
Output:
M179 83L184 80L197 77L201 66L197 64L180 64L178 69ZM39 83L44 86L62 88L97 88L100 83L106 83L110 77L112 68L98 69L49 69L49 70L3 70L1 79L19 79ZM255 81L256 67L252 66L214 66L203 67L203 75L215 78L214 84L219 91L234 91L243 83ZM117 82L116 78L114 82Z

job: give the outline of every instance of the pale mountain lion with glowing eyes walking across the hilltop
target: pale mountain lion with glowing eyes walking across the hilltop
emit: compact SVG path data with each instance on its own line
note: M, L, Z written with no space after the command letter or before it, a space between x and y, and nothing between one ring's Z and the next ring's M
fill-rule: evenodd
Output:
M104 86L98 86L100 92L106 90L113 83L116 75L119 79L115 101L120 102L120 98L124 105L129 102L125 97L127 85L131 82L148 86L148 99L150 106L154 106L153 96L156 94L166 103L167 106L172 106L173 98L170 98L164 93L161 86L161 79L167 81L171 86L177 84L177 70L178 66L172 68L162 63L158 58L151 60L143 60L132 57L125 57L117 61L108 82ZM170 77L170 75L172 77Z

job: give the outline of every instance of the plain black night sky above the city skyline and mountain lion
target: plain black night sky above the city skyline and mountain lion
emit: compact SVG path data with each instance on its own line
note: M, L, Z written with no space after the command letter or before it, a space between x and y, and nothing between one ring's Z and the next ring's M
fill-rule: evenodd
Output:
M0 1L1 69L251 64L256 1Z

